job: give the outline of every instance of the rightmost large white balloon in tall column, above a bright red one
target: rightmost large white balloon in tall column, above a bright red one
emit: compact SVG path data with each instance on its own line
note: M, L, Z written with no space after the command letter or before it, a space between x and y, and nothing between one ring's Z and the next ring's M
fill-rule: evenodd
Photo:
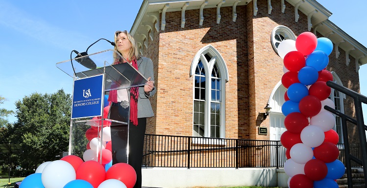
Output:
M310 125L317 125L326 132L334 127L335 117L328 111L321 111L311 118Z

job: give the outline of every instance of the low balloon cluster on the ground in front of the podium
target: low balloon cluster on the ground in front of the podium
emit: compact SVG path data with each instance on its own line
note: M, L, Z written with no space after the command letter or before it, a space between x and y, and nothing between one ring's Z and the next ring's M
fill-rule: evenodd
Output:
M83 162L75 155L47 161L36 173L24 178L20 188L133 188L137 174L126 163L117 163L107 171L96 161Z

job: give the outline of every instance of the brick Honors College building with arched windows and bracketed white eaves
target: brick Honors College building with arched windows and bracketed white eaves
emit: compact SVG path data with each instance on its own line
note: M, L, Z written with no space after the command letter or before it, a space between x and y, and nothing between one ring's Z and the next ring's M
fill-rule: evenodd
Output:
M144 0L130 32L155 67L156 116L148 119L147 133L279 140L286 90L276 48L305 31L333 42L327 70L336 83L360 92L367 48L330 16L316 0ZM331 99L355 117L352 99L333 90ZM267 104L272 110L264 120ZM268 133L258 134L258 126ZM350 142L358 142L356 131L349 132Z

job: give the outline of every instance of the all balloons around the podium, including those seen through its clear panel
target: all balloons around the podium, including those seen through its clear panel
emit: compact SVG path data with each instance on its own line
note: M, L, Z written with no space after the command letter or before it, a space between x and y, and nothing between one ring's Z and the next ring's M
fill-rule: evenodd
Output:
M108 96L105 96L107 102ZM105 104L103 118L110 106ZM20 188L133 188L137 174L126 163L112 165L111 122L94 117L87 123L88 139L83 153L84 161L68 155L57 161L47 161L37 167L34 174L24 178Z

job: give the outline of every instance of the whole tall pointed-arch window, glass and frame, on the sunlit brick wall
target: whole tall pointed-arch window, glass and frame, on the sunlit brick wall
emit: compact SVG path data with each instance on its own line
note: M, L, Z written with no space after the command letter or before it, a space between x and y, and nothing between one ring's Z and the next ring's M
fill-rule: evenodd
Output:
M208 45L196 54L190 76L194 76L193 136L224 138L226 63L219 52Z

